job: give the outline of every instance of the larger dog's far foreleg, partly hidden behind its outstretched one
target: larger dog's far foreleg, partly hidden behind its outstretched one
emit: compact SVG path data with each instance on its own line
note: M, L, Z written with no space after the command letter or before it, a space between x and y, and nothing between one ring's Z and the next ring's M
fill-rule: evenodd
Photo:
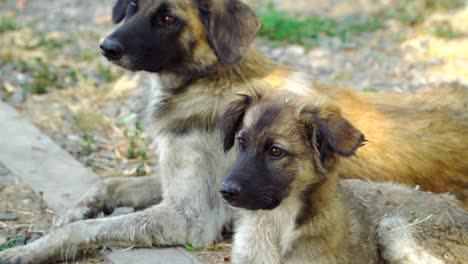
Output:
M81 201L69 209L58 226L95 218L100 212L109 215L117 207L140 210L160 201L161 183L157 176L105 179L93 186Z

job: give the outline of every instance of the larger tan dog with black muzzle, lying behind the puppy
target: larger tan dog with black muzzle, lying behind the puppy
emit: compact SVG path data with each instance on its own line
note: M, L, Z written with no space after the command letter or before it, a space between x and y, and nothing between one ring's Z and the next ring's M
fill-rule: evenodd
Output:
M89 243L216 241L232 218L218 188L235 157L223 152L216 123L227 98L257 87L326 95L343 108L369 142L359 158L342 163L341 176L466 190L466 89L373 96L314 84L251 46L260 21L239 0L119 0L113 15L126 22L101 49L117 65L149 72L147 123L158 146L156 176L101 182L70 209L61 228L1 252L0 260L69 258ZM119 206L146 209L84 220Z

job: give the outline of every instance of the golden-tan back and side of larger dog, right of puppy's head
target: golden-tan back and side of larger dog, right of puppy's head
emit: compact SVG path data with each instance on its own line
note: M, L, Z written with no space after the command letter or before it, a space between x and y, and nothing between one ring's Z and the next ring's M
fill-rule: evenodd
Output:
M368 139L358 157L339 165L340 177L450 191L468 204L468 87L451 84L414 94L318 89Z

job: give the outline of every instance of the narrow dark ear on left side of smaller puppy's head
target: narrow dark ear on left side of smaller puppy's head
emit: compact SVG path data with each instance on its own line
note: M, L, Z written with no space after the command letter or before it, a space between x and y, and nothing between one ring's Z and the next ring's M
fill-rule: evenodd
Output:
M245 111L252 104L252 97L241 94L241 98L231 102L219 121L223 149L229 151L234 146L236 132L244 119Z

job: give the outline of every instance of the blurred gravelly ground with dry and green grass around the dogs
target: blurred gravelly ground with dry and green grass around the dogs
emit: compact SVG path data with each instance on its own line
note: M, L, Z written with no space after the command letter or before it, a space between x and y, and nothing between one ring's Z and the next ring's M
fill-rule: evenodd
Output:
M368 93L468 84L466 0L246 2L263 21L257 45L313 79ZM141 126L140 77L108 63L98 48L116 27L113 4L0 0L0 100L99 177L144 177L157 152ZM54 215L1 166L0 178L4 250L43 235ZM210 263L228 260L227 244L188 249ZM97 252L89 249L83 263L100 263Z

